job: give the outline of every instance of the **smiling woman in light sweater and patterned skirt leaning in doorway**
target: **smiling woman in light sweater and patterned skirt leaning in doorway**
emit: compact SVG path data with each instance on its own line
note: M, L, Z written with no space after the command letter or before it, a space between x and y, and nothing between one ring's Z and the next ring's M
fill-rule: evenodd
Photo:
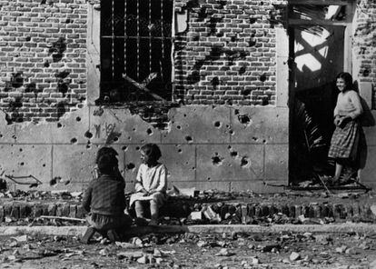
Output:
M360 115L363 113L361 98L354 90L352 77L349 73L337 75L336 86L340 91L337 105L334 108L335 130L331 137L328 156L335 160L335 173L331 184L345 184L341 181L344 165L356 166L359 169L359 150L361 139ZM359 174L358 174L359 176Z

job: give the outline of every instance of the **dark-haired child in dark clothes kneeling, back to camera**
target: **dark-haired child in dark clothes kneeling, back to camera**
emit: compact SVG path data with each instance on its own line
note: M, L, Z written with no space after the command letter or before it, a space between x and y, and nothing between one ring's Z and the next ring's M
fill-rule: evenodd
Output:
M83 242L88 244L95 232L107 236L111 242L119 240L119 234L132 224L124 214L124 178L118 173L118 161L114 154L98 154L99 176L92 180L84 192L83 207L89 212Z

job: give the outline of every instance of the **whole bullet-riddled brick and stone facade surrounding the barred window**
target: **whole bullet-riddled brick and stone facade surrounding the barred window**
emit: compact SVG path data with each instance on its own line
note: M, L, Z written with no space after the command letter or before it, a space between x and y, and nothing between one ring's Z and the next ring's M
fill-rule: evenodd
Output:
M187 11L187 25L175 25L183 32L174 39L173 105L163 107L163 125L157 125L154 118L161 115L141 111L160 103L140 110L95 105L100 1L2 2L1 177L27 183L14 187L28 188L36 178L38 189L82 190L98 148L107 144L119 153L132 191L138 149L151 142L160 145L169 182L178 187L282 191L272 186L288 184L289 52L282 4L175 1L177 14ZM369 33L358 35L360 46L361 35ZM374 85L372 68L360 81Z

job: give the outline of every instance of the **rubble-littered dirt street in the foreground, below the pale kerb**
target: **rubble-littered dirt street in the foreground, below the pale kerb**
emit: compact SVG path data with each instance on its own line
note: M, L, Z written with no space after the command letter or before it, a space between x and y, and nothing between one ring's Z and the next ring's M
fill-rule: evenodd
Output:
M72 236L2 236L0 268L376 268L376 234L146 234L116 244L94 239L82 244Z

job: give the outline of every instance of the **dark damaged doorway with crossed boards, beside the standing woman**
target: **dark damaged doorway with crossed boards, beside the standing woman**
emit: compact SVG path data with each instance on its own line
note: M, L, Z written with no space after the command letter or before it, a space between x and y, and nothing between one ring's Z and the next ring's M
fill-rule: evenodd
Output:
M323 2L289 2L291 185L314 184L333 173L327 154L338 95L335 77L351 72L351 2Z

